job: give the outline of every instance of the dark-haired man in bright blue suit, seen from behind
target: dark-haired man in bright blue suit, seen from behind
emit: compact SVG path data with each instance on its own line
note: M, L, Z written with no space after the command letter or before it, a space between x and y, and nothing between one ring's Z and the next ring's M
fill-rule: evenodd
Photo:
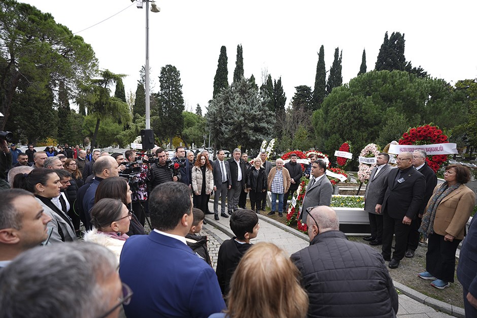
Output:
M134 292L127 317L208 317L226 308L214 269L186 244L191 195L181 182L156 186L149 198L154 230L124 243L119 275Z

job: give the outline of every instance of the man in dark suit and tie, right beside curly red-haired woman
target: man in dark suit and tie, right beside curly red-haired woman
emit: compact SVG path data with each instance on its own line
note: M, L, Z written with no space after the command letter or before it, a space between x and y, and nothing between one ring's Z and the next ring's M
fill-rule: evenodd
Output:
M225 152L220 149L217 151L217 160L212 164L214 168L214 218L216 220L219 220L219 197L222 200L220 215L228 217L225 213L225 198L232 185L232 178L230 177L229 163L224 160L224 157Z

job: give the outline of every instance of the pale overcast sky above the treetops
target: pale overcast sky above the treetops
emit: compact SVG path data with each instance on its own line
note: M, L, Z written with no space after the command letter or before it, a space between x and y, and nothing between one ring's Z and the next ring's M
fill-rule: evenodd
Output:
M126 93L133 92L145 64L146 6L130 0L28 0L57 23L91 44L101 69L127 74ZM325 49L328 71L334 49L343 50L343 82L356 76L366 49L367 70L374 63L384 34L405 34L405 57L432 77L455 83L477 77L475 12L477 1L281 1L159 0L161 12L149 15L150 67L154 90L161 67L181 72L186 110L203 112L212 99L220 47L225 45L229 82L237 44L243 46L245 76L261 84L266 70L282 77L287 104L295 86L315 84L317 52ZM126 9L127 8L127 9Z

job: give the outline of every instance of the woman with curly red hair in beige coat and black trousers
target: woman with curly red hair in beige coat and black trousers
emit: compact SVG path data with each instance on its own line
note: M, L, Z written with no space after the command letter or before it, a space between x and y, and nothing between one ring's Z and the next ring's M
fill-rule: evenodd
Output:
M199 153L192 167L192 191L194 193L194 208L208 211L208 198L214 189L214 175L209 158Z

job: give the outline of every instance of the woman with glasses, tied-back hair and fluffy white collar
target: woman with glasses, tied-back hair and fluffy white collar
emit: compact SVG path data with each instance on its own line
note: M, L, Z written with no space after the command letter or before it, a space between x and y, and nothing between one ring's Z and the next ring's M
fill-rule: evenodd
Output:
M93 229L86 232L84 240L109 248L118 258L124 242L129 237L132 213L118 199L101 199L91 209Z

